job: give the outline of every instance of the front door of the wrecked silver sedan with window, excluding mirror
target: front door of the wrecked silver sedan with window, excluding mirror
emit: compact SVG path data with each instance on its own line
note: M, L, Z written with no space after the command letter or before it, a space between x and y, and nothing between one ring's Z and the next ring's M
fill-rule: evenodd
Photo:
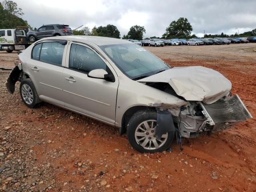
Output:
M118 78L110 64L85 44L71 43L62 79L65 107L109 124L115 123ZM90 78L88 72L104 69L115 82Z

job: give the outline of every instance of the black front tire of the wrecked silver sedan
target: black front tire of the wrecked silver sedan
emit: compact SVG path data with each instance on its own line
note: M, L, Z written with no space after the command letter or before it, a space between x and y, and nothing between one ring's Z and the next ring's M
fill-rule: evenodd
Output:
M166 150L172 143L175 132L168 132L162 135L162 138L161 138L162 142L160 142L159 140L156 140L156 138L154 137L153 134L155 132L155 127L156 127L156 116L157 116L156 110L153 110L153 109L140 110L130 118L127 124L128 141L130 142L130 145L134 149L136 149L141 153L161 152ZM152 123L154 128L150 128ZM144 126L144 124L148 124L149 131L146 130L146 127ZM140 128L143 128L145 130L143 131ZM140 135L136 136L135 135L136 133L140 134L141 136ZM145 139L142 139L142 138L145 138ZM138 141L139 139L142 139L142 140ZM155 143L158 145L158 147ZM145 144L145 146L143 147L142 144L143 145Z

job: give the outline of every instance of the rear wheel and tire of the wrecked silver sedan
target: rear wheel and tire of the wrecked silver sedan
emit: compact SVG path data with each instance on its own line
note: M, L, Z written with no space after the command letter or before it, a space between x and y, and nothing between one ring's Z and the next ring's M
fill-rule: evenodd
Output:
M24 79L20 83L20 97L24 104L29 108L34 108L36 104L41 102L36 92L36 88L30 79Z

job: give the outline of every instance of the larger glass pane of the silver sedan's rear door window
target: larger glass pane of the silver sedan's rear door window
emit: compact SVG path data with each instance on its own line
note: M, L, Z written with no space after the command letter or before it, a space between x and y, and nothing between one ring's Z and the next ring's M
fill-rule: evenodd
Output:
M42 44L40 61L61 65L64 48L65 45L62 45L59 42L44 42Z

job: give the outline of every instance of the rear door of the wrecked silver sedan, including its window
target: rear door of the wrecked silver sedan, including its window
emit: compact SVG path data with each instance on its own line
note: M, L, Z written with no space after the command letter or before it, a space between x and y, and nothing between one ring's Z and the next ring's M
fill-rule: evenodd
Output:
M28 68L25 70L34 83L39 98L59 106L64 106L62 92L64 52L66 47L59 42L45 41L36 44L26 65Z

